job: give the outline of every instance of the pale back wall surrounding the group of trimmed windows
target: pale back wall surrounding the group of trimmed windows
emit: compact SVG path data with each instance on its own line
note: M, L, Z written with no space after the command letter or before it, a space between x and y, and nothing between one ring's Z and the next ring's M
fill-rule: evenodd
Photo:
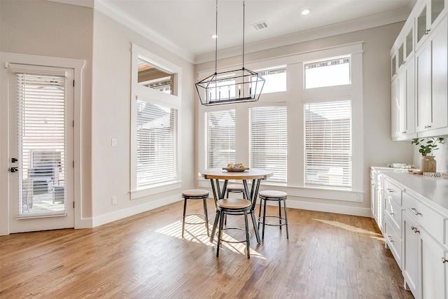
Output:
M366 29L349 34L341 34L325 39L316 39L297 43L272 50L263 50L246 54L247 63L269 60L295 53L306 53L323 48L331 48L344 44L363 42L363 202L347 202L344 200L323 200L299 195L301 191L283 188L288 194L288 206L301 209L334 211L337 213L370 216L370 176L371 165L387 165L391 162L412 163L412 146L410 142L394 142L391 140L391 78L389 52L402 25L396 23ZM219 54L218 54L219 57ZM241 64L241 57L231 57L218 62L218 67ZM281 58L279 59L281 64ZM214 62L198 64L196 72L214 69ZM297 83L299 84L299 83ZM294 111L288 111L288 113ZM297 111L297 116L302 115ZM295 178L288 178L289 180Z

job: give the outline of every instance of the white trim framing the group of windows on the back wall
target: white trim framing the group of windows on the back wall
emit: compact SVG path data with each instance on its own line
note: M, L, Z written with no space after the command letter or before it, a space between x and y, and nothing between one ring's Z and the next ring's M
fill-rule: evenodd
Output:
M351 55L351 85L331 86L328 88L314 88L311 90L304 89L304 69L303 63L324 60L328 57L341 57ZM238 113L241 109L247 109L249 105L269 105L273 103L286 102L288 106L288 183L287 184L272 184L263 182L266 186L281 186L282 190L286 190L288 194L304 197L304 198L318 198L324 200L338 200L348 202L363 202L363 193L368 193L368 190L363 190L364 186L364 153L363 153L363 42L349 43L346 45L335 46L330 48L323 48L312 50L304 53L295 53L292 55L285 55L281 57L274 57L267 60L258 60L254 62L246 62L248 69L266 69L278 65L286 64L287 74L287 91L274 92L272 94L262 95L259 102L241 103L236 106L237 120L241 116ZM230 71L235 69L237 65L221 68L218 71ZM214 69L204 70L197 74L198 79L204 78L214 72ZM303 84L300 85L300 82ZM324 90L325 89L325 90ZM293 117L294 113L303 113L303 102L313 101L328 98L328 92L333 95L332 99L350 98L352 100L352 188L351 190L330 190L323 188L304 187L304 173L300 171L304 167L304 123L303 118ZM229 105L230 107L230 105ZM205 109L211 107L204 107L198 105L198 115L200 119L204 117ZM222 109L223 107L221 107ZM227 108L227 107L226 107ZM209 111L209 110L207 110ZM242 113L244 114L244 113ZM248 114L246 115L246 118ZM203 121L203 120L202 120ZM241 127L248 127L248 122L241 122ZM294 130L292 130L292 128ZM237 162L248 162L248 130L247 132L240 132L244 130L237 130ZM204 136L204 124L198 125L198 136ZM302 145L302 146L300 146ZM197 146L204 148L203 138L199 138ZM247 153L245 152L247 149ZM202 155L197 155L197 162L199 169L204 165L204 158ZM198 186L209 188L207 180L198 179Z

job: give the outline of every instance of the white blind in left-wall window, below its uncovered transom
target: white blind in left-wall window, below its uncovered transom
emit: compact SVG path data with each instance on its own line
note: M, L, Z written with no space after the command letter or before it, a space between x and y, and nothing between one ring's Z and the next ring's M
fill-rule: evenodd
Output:
M137 100L137 188L177 179L177 109Z

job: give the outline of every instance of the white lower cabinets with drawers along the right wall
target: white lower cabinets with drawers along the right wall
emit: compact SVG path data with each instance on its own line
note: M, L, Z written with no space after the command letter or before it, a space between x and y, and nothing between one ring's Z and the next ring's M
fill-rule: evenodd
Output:
M377 211L381 216L375 219L382 219L378 225L382 225L386 248L402 271L405 288L416 299L448 299L448 211L437 209L425 194L410 190L412 184L407 179L402 184L387 172L381 176L384 204ZM371 196L376 197L377 192L373 182Z

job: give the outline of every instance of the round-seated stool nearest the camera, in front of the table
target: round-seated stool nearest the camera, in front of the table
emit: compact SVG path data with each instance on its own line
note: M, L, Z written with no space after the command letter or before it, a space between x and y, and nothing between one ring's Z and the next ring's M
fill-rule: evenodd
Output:
M252 203L249 200L241 199L241 198L224 198L223 200L218 200L216 202L216 207L218 208L216 211L215 223L219 219L219 227L218 227L218 241L216 242L216 257L219 257L219 248L221 247L221 242L230 242L223 240L223 230L242 230L241 228L223 228L224 218L227 215L244 215L244 225L246 232L246 240L245 241L235 241L232 243L240 243L246 242L246 251L247 258L251 258L250 254L250 242L249 239L249 226L247 215L250 213ZM216 223L217 224L217 223ZM216 225L215 224L215 225Z

